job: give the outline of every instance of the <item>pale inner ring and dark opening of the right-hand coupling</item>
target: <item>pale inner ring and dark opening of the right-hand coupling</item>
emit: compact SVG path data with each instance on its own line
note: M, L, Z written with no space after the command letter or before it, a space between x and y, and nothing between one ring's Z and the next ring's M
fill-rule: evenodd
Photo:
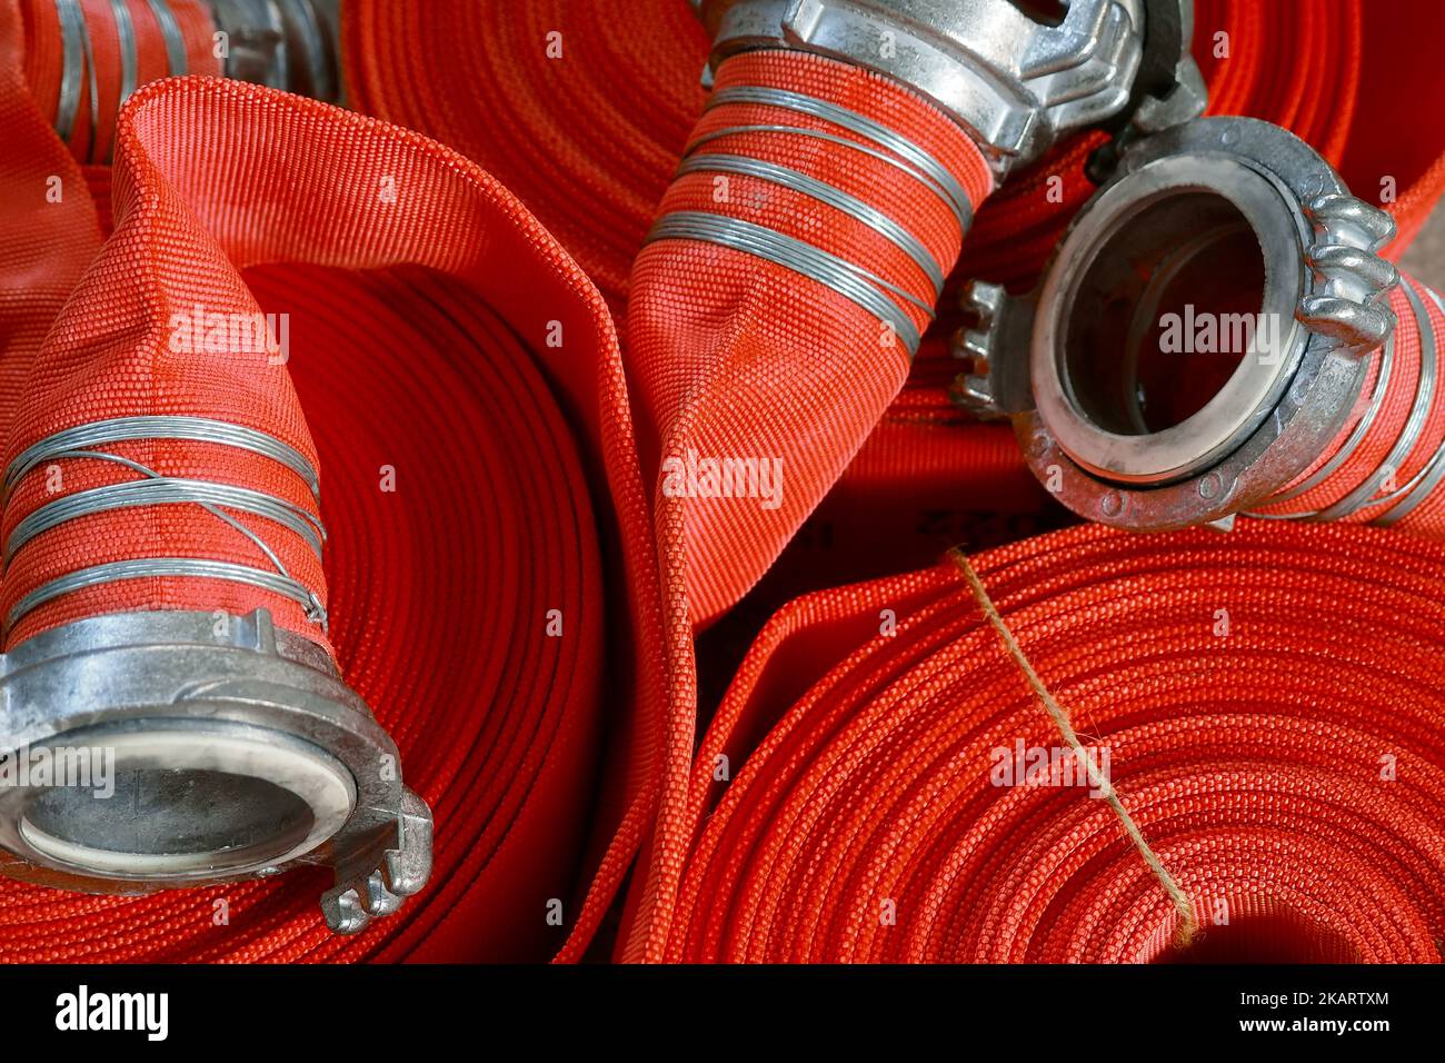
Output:
M1048 272L1030 351L1039 415L1100 479L1198 474L1285 393L1305 283L1273 178L1220 155L1152 162L1081 214Z

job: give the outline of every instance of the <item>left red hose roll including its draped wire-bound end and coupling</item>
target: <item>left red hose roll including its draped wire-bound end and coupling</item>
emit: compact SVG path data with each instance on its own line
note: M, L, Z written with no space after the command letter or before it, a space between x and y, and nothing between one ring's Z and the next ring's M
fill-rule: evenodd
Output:
M6 14L13 19L13 9ZM43 119L23 103L6 98L6 114L27 116L33 136ZM251 150L257 143L264 149ZM61 150L58 139L51 145ZM53 162L26 159L38 169ZM59 174L66 188L82 187L74 163ZM337 182L337 174L351 179ZM392 187L394 197L384 194ZM6 201L43 188L43 181L17 184ZM254 189L266 189L264 200L249 200ZM633 529L618 537L623 567L640 571L626 573L630 602L614 602L613 631L639 658L662 657L649 628L656 574L649 579L646 568L643 495L601 298L474 165L413 133L264 88L185 81L139 90L120 123L116 191L116 236L26 369L10 431L4 605L12 623L0 730L43 742L40 732L90 740L94 727L118 727L124 733L100 736L118 759L136 758L120 765L117 787L156 785L140 804L147 814L127 819L117 804L98 820L91 813L105 804L100 800L7 791L6 821L17 837L6 839L14 856L4 871L126 894L237 881L127 898L6 884L0 955L543 959L581 918L571 884L592 795L604 631L592 509L553 386L568 409L594 411L577 415L577 431L605 457L616 525ZM88 205L87 197L79 201ZM264 210L237 227L236 208L247 201ZM422 214L447 220L457 240L435 240L418 224ZM23 276L7 283L25 291ZM234 350L234 362L218 362L212 351L171 347L176 314L199 305L207 315L253 321L257 298L270 312L295 311L288 363ZM504 317L490 307L504 308ZM532 362L548 357L549 331L568 337L551 354L552 385ZM201 336L197 330L192 340ZM7 346L7 373L12 356L26 351ZM82 379L85 386L74 386ZM301 409L316 428L315 447ZM536 466L514 460L519 440L539 456ZM328 500L318 513L322 469ZM48 483L59 490L48 493ZM316 516L327 518L325 576ZM556 535L558 528L568 531ZM535 564L517 565L519 555ZM158 558L163 564L153 568ZM131 561L140 568L92 579L101 565ZM91 577L72 580L87 571ZM302 594L290 596L299 587L306 606ZM329 629L316 622L318 605ZM84 697L56 699L40 681L71 667L66 649L103 665L85 673L104 683L82 688ZM144 667L127 673L126 659L137 654L147 657ZM160 658L175 667L150 667ZM355 694L334 678L332 659ZM639 667L637 674L646 704L657 697L653 673ZM134 704L116 686L127 675L131 693L194 683L179 704L168 691L150 700L163 710L113 723ZM285 739L290 767L306 761L318 785L303 794L267 790L246 771L218 771L227 765L217 758L263 725L285 730L290 717L277 710L264 720L254 706L277 700L285 693L277 684L298 675L311 686L292 722L311 727L309 738L267 738ZM341 704L328 707L318 694ZM399 787L396 748L384 749L390 739L361 699L396 736L407 782L435 808L441 834L431 889L367 933L337 937L315 907L324 888L316 875L272 871L282 866L280 842L303 846L312 837L293 836L315 826L295 795L318 801L311 813L348 785L366 794ZM107 709L111 701L117 712ZM188 714L194 719L179 719ZM337 730L338 720L351 720L381 759L390 755L390 771L358 767L358 738L332 742L321 733ZM244 735L220 733L236 727ZM211 745L191 742L194 729L207 730ZM231 745L221 748L221 739ZM173 762L152 762L160 756ZM259 764L275 756L231 767ZM197 793L217 800L191 801ZM340 800L324 810L335 816ZM205 807L210 817L199 814ZM244 862L233 830L243 819L256 834L241 839L254 842ZM341 887L367 889L360 904L347 889L332 891L338 930L394 910L361 874L386 861L384 833L355 845L347 861L338 859L337 839L298 855L301 865L337 862ZM360 859L368 861L364 868ZM380 885L420 885L393 871L405 866L383 866L392 878ZM561 926L549 918L553 905ZM23 933L38 926L46 933Z

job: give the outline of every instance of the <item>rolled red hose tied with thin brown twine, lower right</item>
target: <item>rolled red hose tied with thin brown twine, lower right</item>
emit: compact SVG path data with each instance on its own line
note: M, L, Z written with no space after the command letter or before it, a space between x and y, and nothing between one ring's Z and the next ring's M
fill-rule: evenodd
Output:
M1445 550L1084 525L972 565L1183 905L945 561L764 628L649 957L1439 960Z

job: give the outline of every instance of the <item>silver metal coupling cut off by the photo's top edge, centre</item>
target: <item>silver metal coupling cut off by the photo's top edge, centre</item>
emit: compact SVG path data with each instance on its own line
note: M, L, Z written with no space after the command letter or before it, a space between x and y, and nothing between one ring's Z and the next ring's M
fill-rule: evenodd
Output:
M1071 0L1056 25L1009 0L694 0L708 71L738 52L789 48L887 75L936 104L996 178L1064 135L1144 127L1204 110L1189 55L1191 0Z

